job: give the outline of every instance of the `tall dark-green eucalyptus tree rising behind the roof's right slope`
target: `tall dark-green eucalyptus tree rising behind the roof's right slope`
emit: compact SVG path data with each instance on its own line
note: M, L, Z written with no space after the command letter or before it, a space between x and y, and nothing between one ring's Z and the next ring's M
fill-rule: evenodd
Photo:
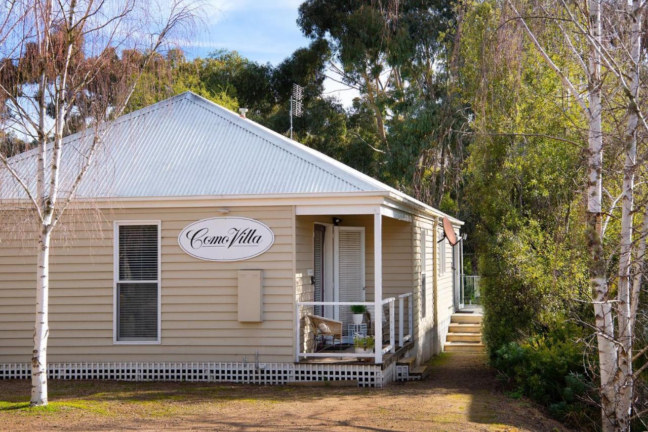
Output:
M463 128L465 108L453 97L450 67L454 3L308 0L298 23L307 37L329 42L329 75L360 91L371 110L375 139L366 145L380 178L439 206L463 160L454 130Z

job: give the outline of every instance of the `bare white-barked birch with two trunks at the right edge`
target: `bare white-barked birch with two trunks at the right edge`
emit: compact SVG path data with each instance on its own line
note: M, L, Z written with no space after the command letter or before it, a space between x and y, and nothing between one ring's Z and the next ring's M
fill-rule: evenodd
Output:
M531 6L505 2L505 10L511 11L507 18L522 27L570 99L578 104L587 125L584 216L604 431L629 430L633 416L642 414L632 411L633 389L646 366L633 371L632 363L646 352L643 348L633 354L648 232L645 203L643 222L634 226L638 211L634 207L634 177L645 165L638 143L648 132L639 94L640 71L645 66L641 49L644 6L642 0L550 0ZM546 36L547 28L559 35L560 43ZM579 70L574 73L560 64L575 64ZM619 111L625 112L619 115ZM615 134L619 129L623 132ZM614 153L619 142L623 143L624 159L621 191L605 206L604 175L614 176L614 170L605 169L603 156L608 151ZM620 223L619 234L612 239L612 254L618 258L616 272L610 271L614 261L605 248L605 228L612 217L618 217Z

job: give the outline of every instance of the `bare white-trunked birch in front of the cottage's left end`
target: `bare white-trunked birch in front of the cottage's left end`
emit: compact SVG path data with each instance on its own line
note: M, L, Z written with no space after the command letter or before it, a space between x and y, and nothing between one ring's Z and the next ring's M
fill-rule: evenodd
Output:
M19 190L16 202L38 226L32 405L47 405L52 232L89 167L100 163L111 121L124 112L143 70L189 30L200 7L189 0L13 0L0 6L1 136L24 136L36 154L35 166L18 169L0 145L5 190L7 184ZM81 163L66 166L61 156L71 132L80 132L87 145L77 149ZM62 173L72 173L64 186Z

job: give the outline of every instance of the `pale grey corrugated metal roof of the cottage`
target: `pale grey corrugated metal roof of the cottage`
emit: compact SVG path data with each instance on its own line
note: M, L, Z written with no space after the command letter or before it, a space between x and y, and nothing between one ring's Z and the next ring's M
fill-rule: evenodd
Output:
M122 115L106 127L78 197L388 191L425 206L190 91ZM94 133L91 128L64 139L62 194L71 188ZM10 164L23 178L34 179L36 151L19 154ZM30 187L36 188L35 180ZM0 197L25 197L5 167L0 167Z

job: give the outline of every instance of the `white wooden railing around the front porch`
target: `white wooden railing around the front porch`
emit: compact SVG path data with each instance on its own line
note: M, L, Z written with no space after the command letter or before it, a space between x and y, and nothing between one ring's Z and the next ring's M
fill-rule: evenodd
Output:
M407 302L404 300L407 299ZM380 332L381 338L376 337L376 342L378 340L388 341L386 344L378 349L376 346L373 353L369 354L356 354L353 351L350 351L347 344L343 344L343 341L332 341L332 344L329 348L332 348L332 351L326 352L314 352L313 346L315 345L314 329L308 328L307 315L314 312L315 306L334 306L334 307L349 307L353 305L366 306L367 311L371 316L371 322L367 323L367 335L376 335L376 332ZM396 339L396 323L395 323L395 312L396 312L396 299L394 297L385 298L382 300L382 311L379 314L380 317L386 317L385 322L377 323L375 322L375 306L374 302L297 302L295 304L295 357L297 361L306 357L356 357L356 358L373 358L375 363L382 363L382 355L389 352L395 353L399 346L407 341L411 341L413 334L413 322L412 322L412 293L400 294L399 296L399 339ZM388 308L388 313L384 312L385 308ZM407 324L404 321L404 317L407 318ZM349 335L347 327L349 322L343 322L343 336L342 339L347 338L347 341L351 341L353 335ZM405 327L407 325L407 327ZM407 331L407 334L405 332ZM330 337L329 337L330 339ZM312 345L311 345L312 344ZM337 346L346 346L345 350L335 351Z

